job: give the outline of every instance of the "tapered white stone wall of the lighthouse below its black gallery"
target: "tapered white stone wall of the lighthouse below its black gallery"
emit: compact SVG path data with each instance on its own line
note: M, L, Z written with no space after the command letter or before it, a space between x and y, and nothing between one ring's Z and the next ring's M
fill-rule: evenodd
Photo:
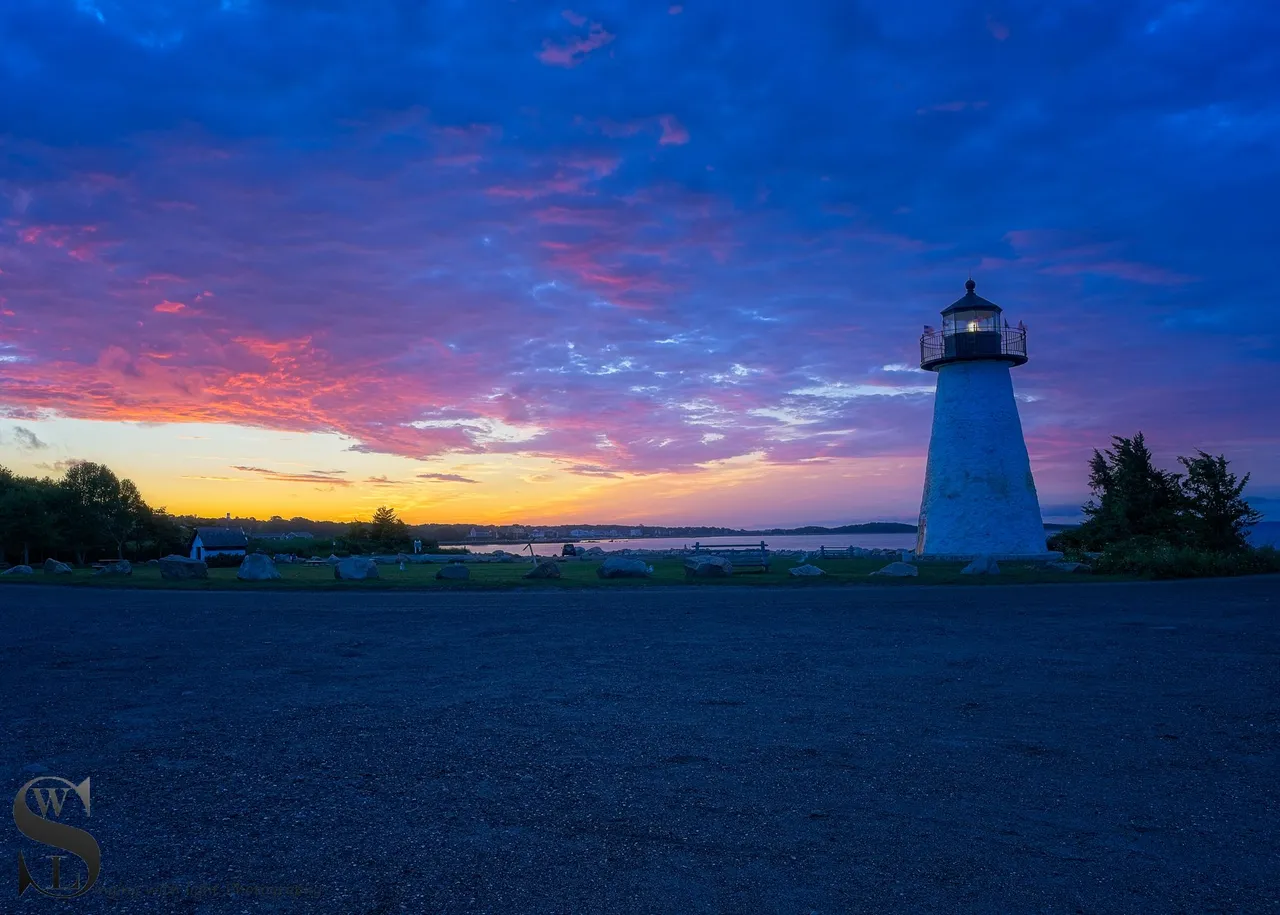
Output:
M916 553L1043 554L1044 523L1005 362L938 370Z

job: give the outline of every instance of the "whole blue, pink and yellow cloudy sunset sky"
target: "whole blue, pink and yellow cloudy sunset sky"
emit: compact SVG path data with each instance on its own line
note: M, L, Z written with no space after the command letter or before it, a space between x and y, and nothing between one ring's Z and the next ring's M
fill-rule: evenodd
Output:
M1046 520L1280 517L1280 6L5 0L0 463L172 512L914 521L964 292Z

